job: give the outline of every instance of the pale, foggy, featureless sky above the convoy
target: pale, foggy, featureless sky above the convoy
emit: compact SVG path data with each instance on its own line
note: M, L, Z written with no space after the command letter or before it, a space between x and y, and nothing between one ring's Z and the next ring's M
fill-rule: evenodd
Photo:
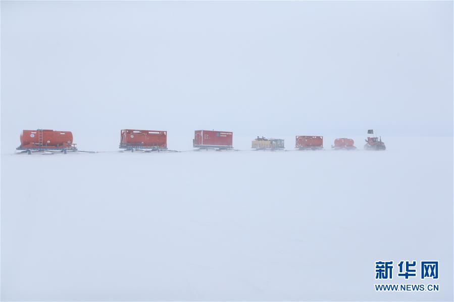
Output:
M38 128L78 141L131 128L452 136L451 12L451 2L2 2L2 153Z

